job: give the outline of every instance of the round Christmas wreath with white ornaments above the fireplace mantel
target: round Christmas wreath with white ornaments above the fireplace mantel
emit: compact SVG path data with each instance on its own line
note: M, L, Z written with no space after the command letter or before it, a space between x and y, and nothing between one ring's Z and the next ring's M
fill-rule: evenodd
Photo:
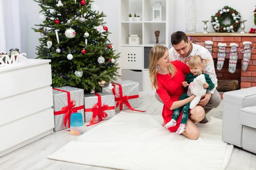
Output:
M212 16L211 23L215 32L234 33L240 28L240 19L241 16L239 12L229 6L224 6L222 9L218 10L215 16ZM224 24L223 21L230 21L230 23Z

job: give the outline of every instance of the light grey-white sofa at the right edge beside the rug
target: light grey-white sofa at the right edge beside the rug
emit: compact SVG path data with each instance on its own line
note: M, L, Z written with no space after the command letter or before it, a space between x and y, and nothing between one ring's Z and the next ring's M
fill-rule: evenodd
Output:
M256 87L223 94L222 140L256 153Z

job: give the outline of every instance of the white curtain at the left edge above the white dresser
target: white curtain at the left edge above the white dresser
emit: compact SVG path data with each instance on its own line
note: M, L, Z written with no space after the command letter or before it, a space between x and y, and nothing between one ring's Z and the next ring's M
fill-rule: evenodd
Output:
M13 47L21 47L19 0L0 0L0 52Z

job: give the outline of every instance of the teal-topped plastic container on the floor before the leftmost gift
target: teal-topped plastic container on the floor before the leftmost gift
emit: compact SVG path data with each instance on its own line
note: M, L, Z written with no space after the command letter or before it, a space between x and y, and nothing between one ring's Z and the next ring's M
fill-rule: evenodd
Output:
M82 113L72 113L70 116L70 134L83 134L83 117Z

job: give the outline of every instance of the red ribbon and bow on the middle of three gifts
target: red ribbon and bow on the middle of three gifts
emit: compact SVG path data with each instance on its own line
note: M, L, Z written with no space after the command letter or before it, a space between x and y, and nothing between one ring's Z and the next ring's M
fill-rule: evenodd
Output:
M84 109L84 112L93 112L92 120L86 126L91 126L106 118L108 114L104 112L105 110L115 109L115 106L108 106L107 104L101 106L101 96L98 93L94 93L98 97L98 102L93 106L93 108ZM98 116L98 121L95 122L96 116Z

